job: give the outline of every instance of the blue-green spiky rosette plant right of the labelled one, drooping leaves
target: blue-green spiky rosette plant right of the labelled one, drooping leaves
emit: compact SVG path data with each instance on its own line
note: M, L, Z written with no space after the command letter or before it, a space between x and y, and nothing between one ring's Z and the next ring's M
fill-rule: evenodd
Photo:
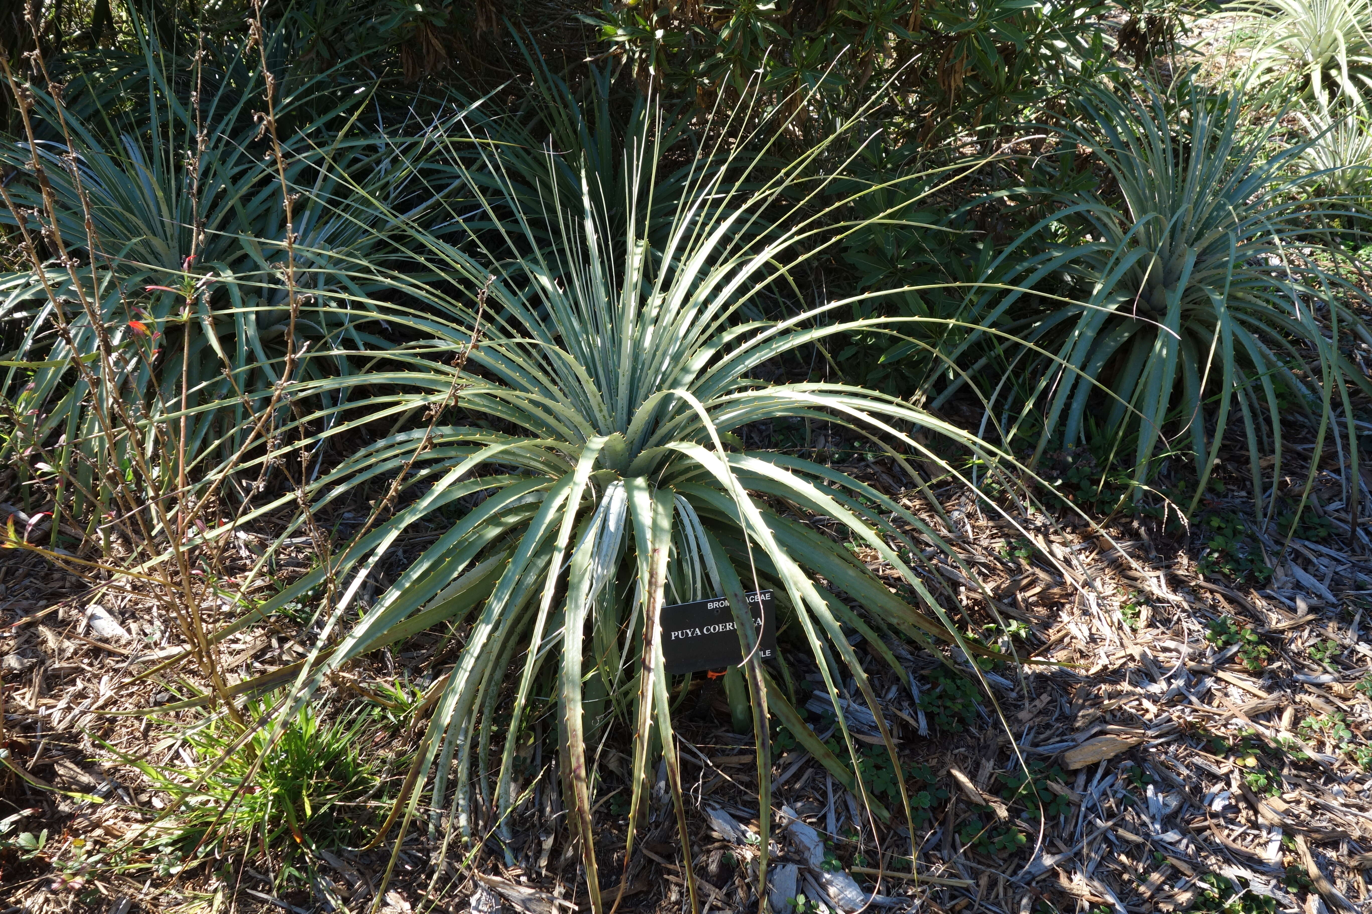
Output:
M1291 414L1320 423L1323 436L1335 392L1347 410L1346 386L1372 389L1345 351L1354 337L1372 338L1347 304L1361 293L1309 255L1318 218L1342 206L1302 203L1309 177L1288 170L1308 145L1268 155L1277 123L1246 136L1242 93L1210 97L1185 82L1173 93L1083 92L1081 116L1061 136L1107 170L1118 201L1095 190L1063 196L1024 237L1056 222L1073 226L1077 243L1007 270L1019 288L984 322L1024 307L1024 288L1044 277L1070 277L1078 300L1024 330L1034 345L1017 355L1033 366L1029 428L1061 432L1067 448L1102 433L1122 456L1133 451L1140 484L1159 447L1190 451L1199 477L1190 512L1239 419L1255 510L1270 514L1259 460L1280 459ZM1345 429L1356 448L1353 425ZM1050 434L1037 436L1036 456Z

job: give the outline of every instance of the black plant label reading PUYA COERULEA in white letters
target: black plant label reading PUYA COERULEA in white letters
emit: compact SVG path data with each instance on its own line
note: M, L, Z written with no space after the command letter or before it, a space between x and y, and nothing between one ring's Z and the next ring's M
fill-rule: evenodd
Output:
M771 591L746 595L753 630L761 634L755 656L777 656L777 613ZM672 674L718 670L744 660L738 647L734 611L726 597L664 606L661 614L663 660Z

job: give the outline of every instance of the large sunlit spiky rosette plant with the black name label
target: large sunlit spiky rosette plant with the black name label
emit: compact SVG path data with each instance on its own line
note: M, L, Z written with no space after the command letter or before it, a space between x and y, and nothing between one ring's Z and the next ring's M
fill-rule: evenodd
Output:
M746 122L746 112L738 116ZM354 429L395 428L398 417L425 417L418 428L372 441L309 488L316 515L365 497L369 484L373 491L392 486L391 495L403 491L403 506L384 514L399 502L376 499L383 512L346 548L239 623L320 588L331 595L320 641L331 647L241 687L295 676L302 696L328 671L381 645L439 623L464 626L457 665L435 692L409 782L424 784L432 774L439 804L454 780L451 821L466 836L475 777L480 795L494 798L488 821L508 837L519 802L513 759L520 734L532 696L552 696L571 822L595 910L602 899L591 833L591 730L624 728L630 737L631 829L645 808L652 755L665 747L685 829L672 682L659 640L664 604L727 596L733 606L746 659L727 687L735 703L745 703L756 733L763 852L772 715L868 808L888 813L775 688L753 651L757 632L744 611L745 592L772 589L779 613L803 632L853 758L838 702L842 680L851 677L874 711L877 699L849 636L866 639L901 681L908 673L884 639L926 645L958 640L912 567L922 560L914 540L940 543L934 532L825 463L745 448L745 426L831 422L893 454L943 462L916 441L922 430L984 466L999 456L875 391L759 378L764 365L853 329L816 321L851 301L782 321L749 317L768 296L785 293L808 258L853 227L836 227L834 212L845 201L816 203L827 180L814 174L825 173L818 166L831 149L811 149L777 177L750 184L750 163L766 155L766 137L720 140L697 149L667 181L656 174L664 149L654 141L653 119L637 125L624 138L628 167L619 184L602 182L576 152L547 148L543 164L531 166L536 158L527 155L527 136L473 130L454 138L454 149L476 149L472 158L454 152L453 169L480 207L454 212L466 232L460 243L416 234L434 270L428 280L384 277L397 295L391 304L376 303L377 311L384 310L388 332L407 343L379 354L386 362L365 374L302 381L289 393L303 404L336 403L347 392L342 400L350 411L342 418L331 408L302 417L307 428L324 429L306 441L311 448ZM713 136L738 133L734 123L718 126ZM679 148L675 156L682 160ZM565 167L576 169L575 199L552 177ZM654 186L675 189L670 206L653 199ZM790 203L814 215L788 218ZM622 234L606 234L612 219L626 226ZM407 304L394 304L402 296ZM816 532L809 522L815 515L837 523L841 539L875 549L904 589L892 592L844 541ZM436 539L375 603L359 606L368 577L417 529ZM335 626L354 610L361 618L333 639ZM881 713L875 717L895 762ZM493 744L501 759L494 773ZM407 802L406 821L417 796ZM690 854L685 861L689 867ZM694 891L693 880L686 882Z

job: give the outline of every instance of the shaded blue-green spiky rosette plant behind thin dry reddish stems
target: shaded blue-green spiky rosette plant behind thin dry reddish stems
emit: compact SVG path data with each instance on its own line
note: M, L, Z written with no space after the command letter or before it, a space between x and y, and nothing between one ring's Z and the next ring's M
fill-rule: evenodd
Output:
M0 374L21 417L0 454L63 436L44 459L59 474L58 511L78 517L92 504L103 514L113 497L99 469L106 448L125 467L128 448L143 448L165 458L163 480L176 474L167 460L177 448L161 423L169 411L180 412L182 428L170 434L196 475L195 456L232 459L251 440L285 349L325 338L335 358L305 370L333 373L350 367L343 349L384 345L357 336L351 314L377 289L355 288L348 271L358 260L402 263L397 225L423 221L442 192L432 177L416 177L439 129L392 143L358 136L370 96L340 78L343 67L289 86L280 100L276 116L291 132L281 130L277 173L262 158L268 140L252 115L265 79L251 67L251 42L178 58L139 37L137 53L115 55L123 66L81 78L69 93L0 74L29 101L22 134L0 143L11 173L0 225L16 230L27 256L21 271L0 273L0 288L8 307L45 303ZM277 30L268 41L280 40ZM377 210L377 199L401 215ZM324 291L328 307L316 307ZM96 370L93 391L86 378L71 384L77 359ZM111 433L97 414L117 399L154 422ZM214 440L217 448L203 447ZM71 504L63 491L75 493Z

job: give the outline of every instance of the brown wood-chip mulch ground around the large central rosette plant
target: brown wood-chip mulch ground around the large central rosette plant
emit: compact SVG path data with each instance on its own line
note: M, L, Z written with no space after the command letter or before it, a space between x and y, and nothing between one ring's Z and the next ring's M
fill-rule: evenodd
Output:
M899 492L890 467L847 469L943 525L919 496ZM1238 578L1221 577L1217 559L1243 556L1214 539L1173 539L1154 518L1100 528L1037 514L1019 518L1017 528L951 488L940 491L945 506L960 504L947 512L958 560L930 549L930 584L948 606L960 607L970 632L1033 662L982 669L985 696L970 687L977 676L960 656L948 658L949 667L890 643L901 674L875 656L868 660L910 788L914 840L889 756L860 702L845 710L868 798L890 810L885 821L778 730L772 909L1372 910L1362 873L1372 866L1372 644L1365 633L1372 549L1367 522L1351 530L1335 495L1327 491L1323 506L1317 495L1317 522L1302 528L1318 539L1297 537L1283 551L1280 533L1250 528L1249 570L1272 569L1258 581L1244 569ZM1242 504L1229 507L1211 500L1207 510L1231 517ZM815 522L823 526L823 518ZM284 555L288 567L289 551ZM1266 558L1257 562L1258 555ZM165 818L170 795L129 759L173 776L178 766L189 770L195 759L181 736L203 713L108 713L156 707L173 699L172 689L181 693L177 682L195 678L184 667L136 678L174 656L180 636L152 600L92 593L88 582L41 556L5 556L0 914L589 910L556 759L545 759L541 748L528 759L509 856L487 840L451 850L438 869L442 835L420 824L388 882L390 841L296 855L298 876L281 870L274 851L262 855L255 845L184 872L174 861L159 863L148 837L156 829L145 826ZM92 604L102 611L92 613ZM128 637L108 634L108 623ZM222 651L226 669L246 677L298 659L305 641L300 633L258 626ZM420 693L435 662L443 662L445 644L423 636L350 670L321 697L321 714L343 717L370 702L380 721L386 687L410 681ZM836 740L823 692L805 695L816 688L815 669L794 656L790 673L814 729ZM722 689L704 677L690 688L696 693L683 697L679 724L700 904L715 914L756 910L752 737L730 732ZM370 830L403 778L414 733L414 722L403 721L358 737L383 785L354 807ZM682 850L661 771L641 852L624 866L622 748L606 743L598 754L601 885L609 903L619 898L619 910L686 910ZM480 810L475 815L477 832L488 832L493 824ZM25 833L33 840L21 840Z

